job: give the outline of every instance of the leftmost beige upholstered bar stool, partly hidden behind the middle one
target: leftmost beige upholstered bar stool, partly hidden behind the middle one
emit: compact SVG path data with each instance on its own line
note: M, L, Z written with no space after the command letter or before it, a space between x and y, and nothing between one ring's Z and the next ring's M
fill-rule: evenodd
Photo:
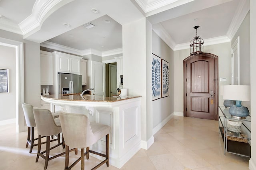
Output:
M33 147L38 145L38 143L34 144L34 141L38 140L38 138L34 138L34 127L36 127L36 122L35 122L34 113L33 113L33 106L30 104L23 103L22 108L23 108L23 112L26 120L26 125L28 126L28 137L27 137L26 148L28 147L28 145L30 145L29 152L31 153ZM59 117L59 115L56 113L52 113L52 115L54 116L54 118Z

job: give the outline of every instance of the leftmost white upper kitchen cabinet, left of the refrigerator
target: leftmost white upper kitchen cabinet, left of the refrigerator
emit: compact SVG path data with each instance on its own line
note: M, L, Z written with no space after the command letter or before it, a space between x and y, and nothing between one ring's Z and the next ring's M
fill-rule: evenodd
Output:
M41 85L53 85L52 53L40 51Z

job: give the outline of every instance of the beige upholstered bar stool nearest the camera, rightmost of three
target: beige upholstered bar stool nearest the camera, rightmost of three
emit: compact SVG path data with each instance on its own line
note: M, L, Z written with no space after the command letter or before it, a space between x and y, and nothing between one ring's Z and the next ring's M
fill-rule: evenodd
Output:
M84 156L89 159L89 152L105 157L106 159L96 165L92 170L99 168L104 163L109 166L109 132L110 127L99 123L90 123L86 115L59 112L62 134L66 145L65 170L70 170L81 160L81 170L84 170ZM102 137L106 137L106 154L98 153L89 149ZM80 148L81 157L68 167L69 147ZM84 152L86 148L86 152Z

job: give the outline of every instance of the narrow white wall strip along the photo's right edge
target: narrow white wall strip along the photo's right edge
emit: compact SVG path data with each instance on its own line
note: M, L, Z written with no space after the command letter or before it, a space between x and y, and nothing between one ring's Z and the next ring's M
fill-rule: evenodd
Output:
M256 170L256 1L250 0L250 68L251 68L251 159L249 160L250 170Z

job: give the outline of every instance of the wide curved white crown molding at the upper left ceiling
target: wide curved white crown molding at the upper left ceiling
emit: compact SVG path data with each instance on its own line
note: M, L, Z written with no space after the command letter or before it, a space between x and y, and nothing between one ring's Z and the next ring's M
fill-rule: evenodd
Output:
M73 0L36 0L32 14L19 23L24 39L41 29L42 23L53 12Z

